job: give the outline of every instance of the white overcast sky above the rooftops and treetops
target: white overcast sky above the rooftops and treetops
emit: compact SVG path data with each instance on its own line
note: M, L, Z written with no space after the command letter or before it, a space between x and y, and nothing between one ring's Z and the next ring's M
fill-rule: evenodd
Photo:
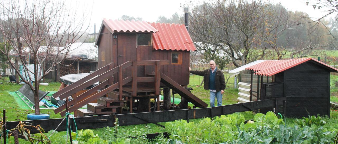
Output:
M142 17L144 21L156 22L160 15L171 17L175 12L182 14L182 6L194 0L81 0L66 1L70 8L78 7L79 11L88 13L89 33L94 32L93 25L96 24L96 32L100 29L102 19L119 19L122 15ZM310 17L321 17L322 12L314 10L312 6L306 5L305 0L271 0L274 3L281 3L285 8L292 11L304 11Z

